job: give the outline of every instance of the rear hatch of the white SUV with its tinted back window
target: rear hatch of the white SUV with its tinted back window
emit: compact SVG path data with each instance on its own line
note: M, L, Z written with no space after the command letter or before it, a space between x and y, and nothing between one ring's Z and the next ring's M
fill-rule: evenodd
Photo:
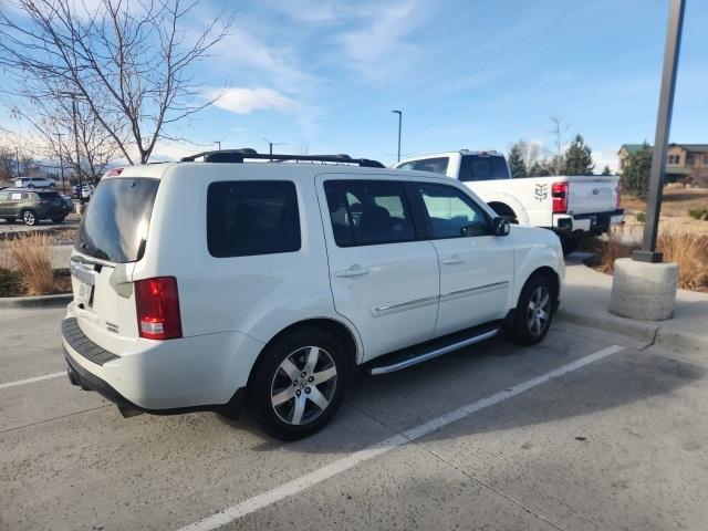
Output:
M138 337L134 263L143 257L159 179L101 181L71 257L74 311L90 340L116 352Z

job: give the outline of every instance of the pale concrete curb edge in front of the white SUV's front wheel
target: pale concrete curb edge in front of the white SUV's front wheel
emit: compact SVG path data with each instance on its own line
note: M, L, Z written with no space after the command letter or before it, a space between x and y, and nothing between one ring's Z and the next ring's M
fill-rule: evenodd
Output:
M655 344L667 351L683 354L708 354L708 336L671 330L662 326L660 322L646 323L618 315L583 314L565 309L559 309L555 316L566 323L624 335L647 346Z

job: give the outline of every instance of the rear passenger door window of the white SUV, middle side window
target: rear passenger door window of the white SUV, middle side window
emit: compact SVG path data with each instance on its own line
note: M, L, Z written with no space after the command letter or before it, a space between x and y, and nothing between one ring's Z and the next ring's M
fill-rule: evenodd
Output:
M324 191L339 247L414 241L416 231L403 183L329 180Z

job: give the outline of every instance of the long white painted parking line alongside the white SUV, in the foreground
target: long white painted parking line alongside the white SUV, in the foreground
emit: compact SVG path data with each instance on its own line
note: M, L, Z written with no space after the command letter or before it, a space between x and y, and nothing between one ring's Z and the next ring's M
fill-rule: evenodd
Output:
M521 384L514 385L509 389L500 391L499 393L496 393L480 400L472 402L471 404L459 407L450 413L410 428L403 434L396 434L393 437L369 446L368 448L354 452L347 457L331 462L330 465L325 465L317 470L288 481L287 483L275 487L274 489L254 496L253 498L249 498L248 500L229 507L228 509L225 509L223 511L218 512L211 517L207 517L204 520L199 520L195 523L184 527L179 531L208 531L220 528L221 525L226 525L227 523L238 520L239 518L250 514L251 512L256 512L259 509L263 509L264 507L275 503L277 501L288 498L289 496L295 494L321 481L324 481L332 476L348 470L350 468L353 468L361 462L367 461L368 459L385 454L388 450L393 450L394 448L403 446L406 442L419 439L420 437L444 426L447 426L450 423L465 418L472 413L508 400L509 398L512 398L523 393L524 391L529 391L532 387L542 385L550 379L558 378L560 376L563 376L564 374L576 371L581 367L584 367L585 365L602 360L603 357L623 351L624 348L624 346L617 345L608 346L607 348L603 348L602 351L595 352L594 354L581 357L573 363L562 365L561 367L551 371L550 373L545 373L541 376L537 376L535 378L528 379Z

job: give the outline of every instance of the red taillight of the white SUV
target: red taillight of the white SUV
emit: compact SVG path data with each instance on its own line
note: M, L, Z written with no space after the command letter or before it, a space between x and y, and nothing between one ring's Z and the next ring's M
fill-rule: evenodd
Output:
M135 306L140 337L175 340L181 337L177 279L156 277L135 282Z

